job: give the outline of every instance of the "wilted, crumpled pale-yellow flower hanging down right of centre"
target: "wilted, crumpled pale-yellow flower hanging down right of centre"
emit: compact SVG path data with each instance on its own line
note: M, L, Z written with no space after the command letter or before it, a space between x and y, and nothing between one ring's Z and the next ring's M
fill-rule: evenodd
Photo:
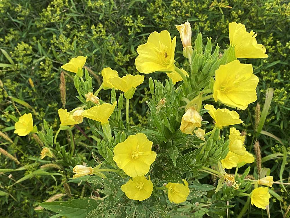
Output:
M183 133L193 135L192 131L196 127L201 127L202 116L195 108L189 108L186 110L185 114L182 116L180 130Z

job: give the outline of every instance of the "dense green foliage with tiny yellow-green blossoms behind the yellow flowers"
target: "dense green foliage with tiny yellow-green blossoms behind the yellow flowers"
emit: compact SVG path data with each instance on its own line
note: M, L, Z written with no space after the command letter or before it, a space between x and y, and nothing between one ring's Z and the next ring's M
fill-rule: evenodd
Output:
M260 78L257 95L261 108L265 101L265 90L269 87L274 89L263 130L280 138L286 145L287 154L290 154L289 1L0 0L0 48L8 54L5 55L2 50L0 52L0 78L7 92L4 89L0 90L0 129L9 135L16 146L10 145L2 138L0 145L15 155L22 165L31 164L25 174L24 171L11 172L11 178L8 177L8 172L0 171L0 190L9 193L3 196L0 193L1 217L50 217L52 216L50 211L44 210L37 214L33 207L54 194L67 193L66 185L61 184L57 175L55 177L57 179L54 180L52 174L35 175L36 179L29 178L11 186L24 175L39 168L39 161L36 162L36 159L39 157L40 149L34 140L18 137L13 133L12 129L18 115L8 95L31 105L35 110L32 114L35 121L42 123L41 120L45 119L52 128L57 129L59 125L57 110L62 107L59 90L61 65L75 56L88 56L86 67L94 77L93 85L96 91L102 82L100 72L104 67L117 70L121 76L138 73L134 64L137 57L136 49L138 45L146 42L146 38L153 31L168 30L172 37L176 35L175 52L181 54L182 44L175 25L186 20L191 23L193 38L201 32L204 40L206 37L212 37L212 42L218 43L224 49L229 45L227 28L229 22L243 23L248 31L258 33L257 41L266 46L269 58L247 60L247 63L253 65L254 74ZM181 57L180 54L178 57ZM182 58L176 61L183 62ZM75 97L77 92L73 86L73 76L65 75L68 110L79 105ZM145 75L145 82L138 87L135 101L132 100L131 104L130 122L140 127L146 126L147 123L145 102L150 95L146 87L151 76L165 78L163 74ZM34 87L30 85L29 78ZM102 93L110 96L109 91ZM29 107L17 102L15 104L21 114L31 112ZM138 107L135 107L137 104ZM249 112L245 110L240 113L241 119L245 121L242 130L247 131L248 145L251 144L253 135L250 119L254 119L255 105L256 103L253 103L249 106ZM91 150L87 148L86 139L81 135L75 137L76 143L85 150L79 151L81 160L94 161L90 154ZM273 138L261 135L259 140L262 157L272 153L283 153L281 144ZM253 150L251 152L253 153ZM1 155L0 158L2 169L19 167L6 156ZM78 161L76 160L76 163ZM45 163L49 162L42 160L41 164ZM282 175L283 178L288 178L289 182L287 164L287 161L284 162L286 167ZM274 181L278 181L281 165L282 158L275 158L265 162L263 167L270 168ZM69 165L66 169L53 169L52 172L57 170L67 171L67 177L72 176ZM73 194L80 195L81 192L85 192L89 195L88 186L81 188L77 183L72 184L70 188ZM271 217L281 217L279 208L284 211L287 209L290 198L289 187L286 189L287 192L281 187L284 202L273 200L277 211L271 210ZM244 205L244 201L237 200L235 209L240 210L241 205ZM252 212L261 214L260 210Z

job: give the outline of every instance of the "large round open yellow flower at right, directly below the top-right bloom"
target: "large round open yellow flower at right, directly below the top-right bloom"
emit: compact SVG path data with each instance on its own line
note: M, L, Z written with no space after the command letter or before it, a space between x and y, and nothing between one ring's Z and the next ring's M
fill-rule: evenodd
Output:
M253 74L251 64L241 64L239 60L231 61L220 65L215 71L213 99L226 106L245 110L250 103L257 100L258 83L259 78Z

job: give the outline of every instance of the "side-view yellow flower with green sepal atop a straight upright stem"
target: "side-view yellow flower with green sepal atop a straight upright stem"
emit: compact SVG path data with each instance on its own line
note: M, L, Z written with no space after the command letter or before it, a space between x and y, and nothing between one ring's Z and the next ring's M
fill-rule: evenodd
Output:
M124 92L125 98L131 99L135 93L136 87L142 84L144 81L144 76L141 75L130 75L110 78L109 82L117 89Z

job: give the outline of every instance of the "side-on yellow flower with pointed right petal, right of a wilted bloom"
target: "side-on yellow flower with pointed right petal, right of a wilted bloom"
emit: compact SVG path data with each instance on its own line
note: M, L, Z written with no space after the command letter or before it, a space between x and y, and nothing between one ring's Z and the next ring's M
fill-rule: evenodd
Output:
M116 104L117 101L115 101L113 105L109 103L104 103L101 105L93 106L88 110L84 110L82 115L86 118L99 121L101 124L106 123L109 120L110 116L112 115L116 107Z

